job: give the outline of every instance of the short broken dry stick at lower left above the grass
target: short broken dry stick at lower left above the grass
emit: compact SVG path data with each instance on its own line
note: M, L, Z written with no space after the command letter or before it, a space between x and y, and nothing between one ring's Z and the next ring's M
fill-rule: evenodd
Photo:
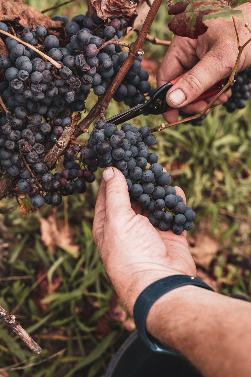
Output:
M3 323L11 328L36 355L41 354L43 349L26 333L23 327L19 325L16 321L16 316L12 316L4 308L0 307L0 319L2 319Z

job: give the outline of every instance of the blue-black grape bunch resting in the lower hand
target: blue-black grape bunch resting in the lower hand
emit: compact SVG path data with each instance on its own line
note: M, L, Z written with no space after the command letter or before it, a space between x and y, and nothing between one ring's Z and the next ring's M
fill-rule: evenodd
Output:
M115 124L96 123L90 134L88 147L81 150L83 158L97 159L97 166L114 166L126 177L130 197L134 197L144 210L150 210L149 221L163 231L172 229L181 234L193 227L195 213L176 195L169 173L163 172L156 153L149 153L156 137L149 127L138 131L129 123L118 130Z

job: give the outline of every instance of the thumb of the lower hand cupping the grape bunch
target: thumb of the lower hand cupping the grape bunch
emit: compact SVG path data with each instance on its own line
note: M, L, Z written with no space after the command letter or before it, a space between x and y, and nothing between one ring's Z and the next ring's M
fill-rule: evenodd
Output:
M126 220L135 215L131 208L128 185L120 170L108 167L103 170L105 183L105 221Z

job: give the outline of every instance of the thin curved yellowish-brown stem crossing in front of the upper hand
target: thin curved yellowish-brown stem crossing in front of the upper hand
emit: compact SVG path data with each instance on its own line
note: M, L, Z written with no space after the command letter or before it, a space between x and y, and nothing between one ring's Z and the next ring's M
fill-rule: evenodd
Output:
M237 26L236 26L236 22L235 22L235 19L234 19L234 16L232 16L232 19L233 19L233 23L234 23L234 29L235 29L235 32L236 32L236 37L237 37L237 46L238 46L238 56L237 56L237 59L236 59L236 62L234 64L234 68L233 68L233 71L230 75L230 78L227 82L227 84L221 89L221 91L219 93L216 94L216 96L213 98L213 100L205 107L205 109L203 109L201 112L199 112L198 114L195 114L195 115L192 115L192 116L189 116L189 118L185 118L185 119L181 119L181 120L178 120L176 122L173 122L173 123L169 123L169 124L164 124L162 123L160 126L157 126L153 129L151 129L151 132L156 132L156 131L162 131L164 130L165 128L167 127L172 127L172 126L175 126L176 124L180 124L180 123L184 123L184 122L187 122L187 121L190 121L190 120L193 120L193 119L197 119L197 118L203 118L205 113L207 112L208 109L210 109L210 107L213 106L214 102L218 100L219 97L221 97L221 95L232 85L234 84L235 80L234 80L234 75L236 74L236 70L237 70L237 67L238 67L238 64L239 64L239 61L240 61L240 57L242 55L242 51L243 49L247 46L247 44L249 42L251 42L251 38L249 38L249 40L247 40L242 46L240 45L240 38L239 38L239 33L238 33L238 30L237 30ZM248 25L246 24L245 25L246 28L248 28ZM251 33L251 29L249 29L249 32Z

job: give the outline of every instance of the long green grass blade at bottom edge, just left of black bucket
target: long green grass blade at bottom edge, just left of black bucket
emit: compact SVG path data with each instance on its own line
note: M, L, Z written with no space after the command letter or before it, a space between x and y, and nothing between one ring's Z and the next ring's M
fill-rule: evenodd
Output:
M83 360L81 360L80 362L78 362L75 365L75 367L73 369L71 369L70 372L68 372L67 374L65 374L64 377L71 377L71 376L73 376L76 371L78 371L79 369L84 368L85 366L87 366L90 363L92 363L95 360L97 360L103 354L103 352L105 352L106 349L110 346L110 344L113 341L113 339L114 339L114 337L115 337L116 334L117 334L116 331L113 331L112 333L110 333L109 335L107 335L105 337L105 339L103 339L102 342L100 342L97 345L97 347L88 356L86 356Z

